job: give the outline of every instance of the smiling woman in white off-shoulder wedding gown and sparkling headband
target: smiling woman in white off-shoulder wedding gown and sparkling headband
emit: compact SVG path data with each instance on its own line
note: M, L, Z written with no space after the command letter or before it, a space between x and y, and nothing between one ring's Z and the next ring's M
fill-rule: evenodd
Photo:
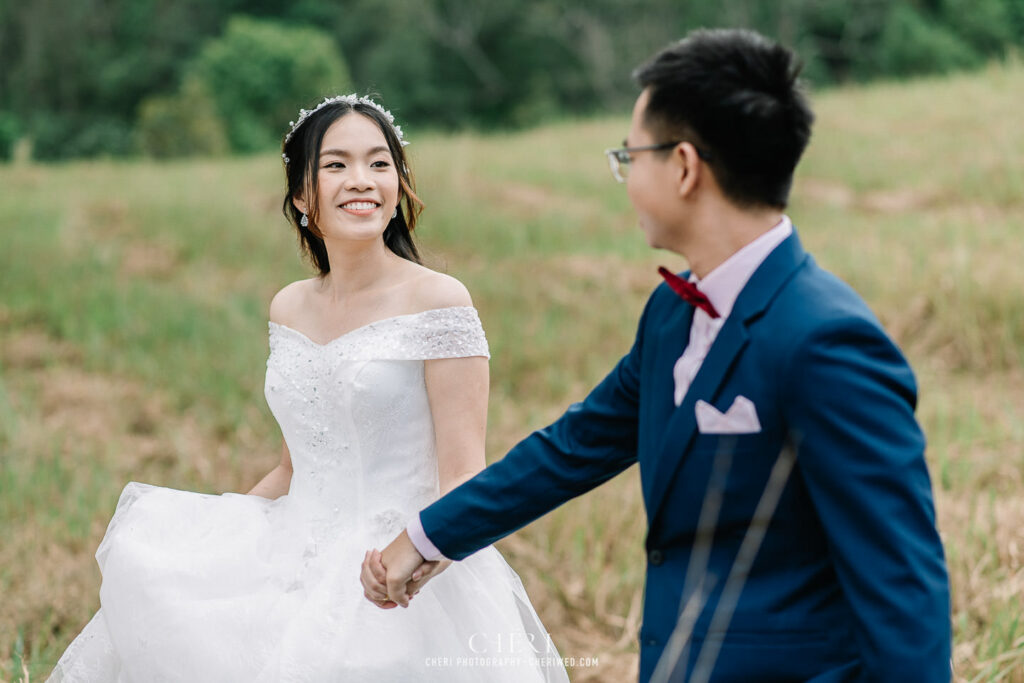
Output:
M419 263L403 144L355 95L292 124L285 212L318 275L270 303L281 463L246 496L129 483L101 607L51 681L567 680L494 548L409 609L364 599L362 549L484 465L487 343L466 289Z

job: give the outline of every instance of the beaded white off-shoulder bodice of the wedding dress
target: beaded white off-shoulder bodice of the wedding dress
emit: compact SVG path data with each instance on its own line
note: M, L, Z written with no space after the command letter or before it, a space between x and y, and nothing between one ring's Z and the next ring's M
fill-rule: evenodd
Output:
M476 310L389 317L327 344L269 327L264 392L292 457L288 498L325 532L400 528L438 495L424 360L488 356Z

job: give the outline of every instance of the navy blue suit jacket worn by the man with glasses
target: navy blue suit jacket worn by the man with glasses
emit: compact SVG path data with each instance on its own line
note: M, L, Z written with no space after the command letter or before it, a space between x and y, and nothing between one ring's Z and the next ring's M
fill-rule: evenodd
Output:
M724 634L713 681L950 678L949 587L909 366L863 301L815 265L796 233L740 292L678 408L673 366L693 309L667 286L629 353L587 398L422 511L461 559L639 462L648 518L640 680L677 624L716 451L732 450L685 680L768 473L796 465ZM761 431L699 432L694 405L739 396ZM722 441L727 438L728 441Z

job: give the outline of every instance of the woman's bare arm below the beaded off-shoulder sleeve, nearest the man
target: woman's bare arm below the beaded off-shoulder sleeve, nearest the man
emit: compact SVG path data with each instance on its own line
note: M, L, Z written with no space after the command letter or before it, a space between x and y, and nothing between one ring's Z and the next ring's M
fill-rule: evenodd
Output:
M487 359L472 356L427 360L424 374L443 496L472 478L485 465Z

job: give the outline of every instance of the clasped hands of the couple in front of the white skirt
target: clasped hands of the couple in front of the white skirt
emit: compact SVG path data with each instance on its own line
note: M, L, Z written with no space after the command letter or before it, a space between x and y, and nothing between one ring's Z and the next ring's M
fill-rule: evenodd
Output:
M359 571L362 595L381 609L408 607L423 585L450 564L451 560L423 559L409 533L402 531L383 552L367 551Z

